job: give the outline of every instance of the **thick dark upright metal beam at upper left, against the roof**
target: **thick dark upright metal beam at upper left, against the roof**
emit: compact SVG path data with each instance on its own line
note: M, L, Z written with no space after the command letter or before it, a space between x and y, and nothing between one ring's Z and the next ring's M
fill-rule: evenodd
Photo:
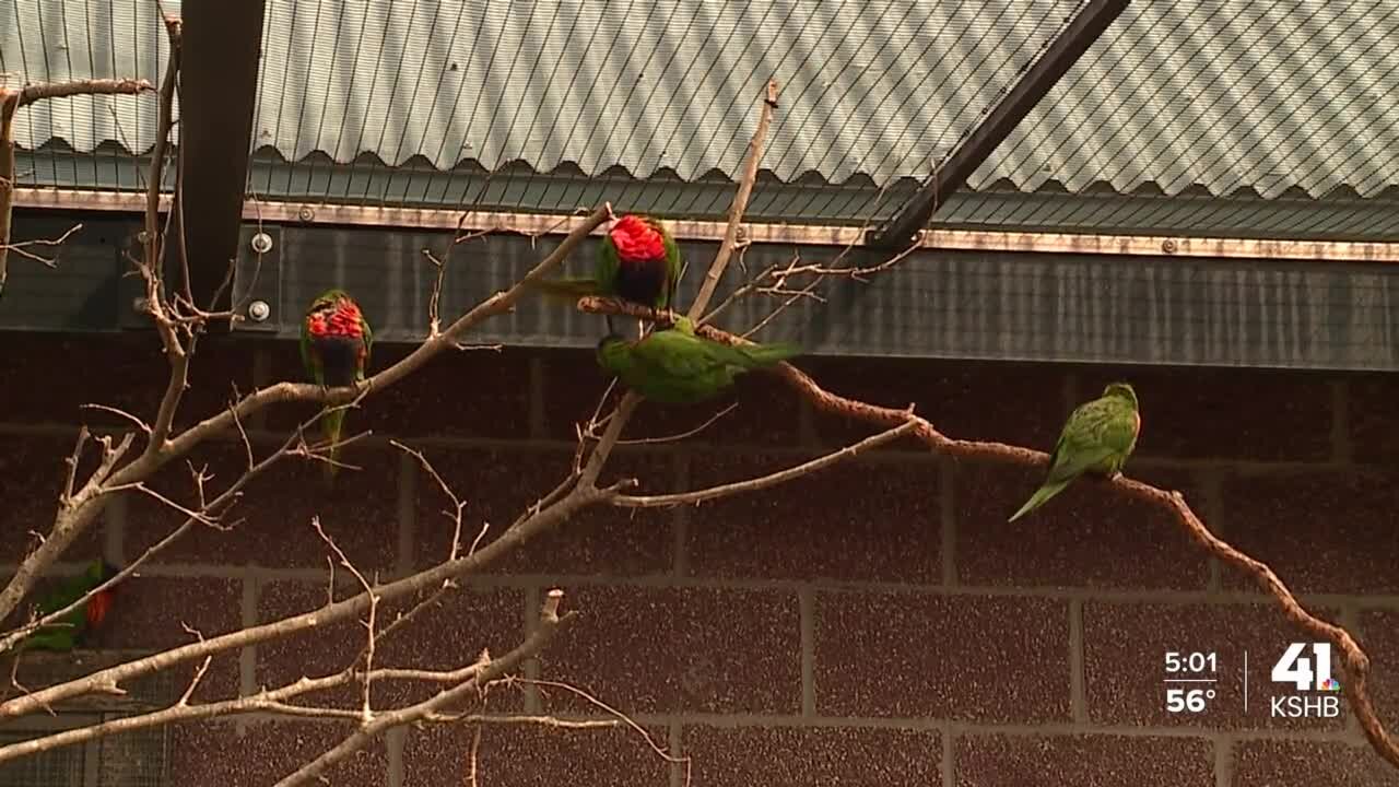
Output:
M182 231L192 290L201 305L224 280L238 249L264 1L187 0L180 7Z

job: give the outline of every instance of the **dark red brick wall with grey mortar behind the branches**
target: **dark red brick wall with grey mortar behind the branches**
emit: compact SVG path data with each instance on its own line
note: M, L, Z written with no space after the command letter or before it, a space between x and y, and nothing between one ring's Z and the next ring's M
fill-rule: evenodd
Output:
M395 350L381 353L383 363ZM161 357L148 337L6 337L0 377L0 560L52 515L59 458L87 401L151 412ZM1399 384L1382 377L1227 370L1115 370L943 361L800 363L841 394L916 402L947 433L1048 447L1072 406L1128 375L1144 434L1130 475L1171 485L1226 538L1269 560L1305 601L1358 632L1374 690L1399 724L1399 529L1393 464ZM204 415L297 370L290 344L211 340L186 412ZM76 372L76 374L74 374ZM152 377L157 375L157 377ZM18 384L15 382L18 381ZM372 399L353 429L421 445L498 532L551 487L572 424L603 379L581 353L474 351L435 363ZM741 385L722 426L674 445L628 447L604 480L691 489L800 461L866 430L810 412L779 385ZM716 408L645 405L632 437L681 431ZM304 408L259 419L262 443ZM187 419L186 419L187 420ZM383 577L446 549L445 499L382 440L347 452L367 472L337 500L318 468L256 485L227 534L200 532L130 585L108 647L185 641L315 608L325 598L326 528ZM203 450L227 483L231 445ZM185 471L158 479L187 500ZM569 681L631 713L693 758L694 784L880 786L1378 786L1399 784L1353 718L1269 720L1269 667L1302 637L1241 576L1195 549L1160 513L1102 486L1070 489L1034 517L1006 515L1034 473L956 462L900 444L776 493L631 517L593 511L530 542L382 658L456 665L504 653L541 591L583 613L527 674ZM176 518L150 500L112 507L73 559L130 560ZM491 538L491 535L487 535ZM329 626L215 660L203 696L319 674L358 650ZM411 644L410 644L411 643ZM1167 650L1216 651L1220 683L1199 716L1164 711ZM1254 699L1241 703L1244 651ZM1337 672L1337 678L1344 679ZM389 685L383 700L422 696ZM327 697L353 702L346 695ZM586 714L565 692L508 689L495 711ZM334 724L259 718L182 728L180 783L270 784L332 745ZM228 735L241 735L229 748ZM397 731L334 774L336 784L463 784L469 732ZM632 731L491 727L484 784L663 784L683 770Z

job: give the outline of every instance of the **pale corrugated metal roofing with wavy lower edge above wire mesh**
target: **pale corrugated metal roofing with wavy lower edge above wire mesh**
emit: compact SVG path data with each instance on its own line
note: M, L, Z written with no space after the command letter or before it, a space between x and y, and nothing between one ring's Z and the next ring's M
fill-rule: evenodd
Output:
M369 151L381 171L523 160L690 181L737 169L774 74L765 167L887 185L926 175L1077 6L267 0L253 146ZM0 70L20 81L155 80L162 59L154 1L0 11ZM1399 0L1139 0L970 185L1372 196L1399 185L1395 63ZM46 102L17 141L145 150L154 112L150 97Z

